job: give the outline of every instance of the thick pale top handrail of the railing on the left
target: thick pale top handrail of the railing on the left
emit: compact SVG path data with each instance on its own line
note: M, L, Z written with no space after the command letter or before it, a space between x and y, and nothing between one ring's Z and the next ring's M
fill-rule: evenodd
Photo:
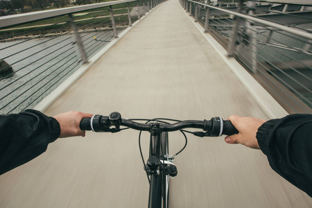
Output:
M101 8L105 6L113 6L120 3L127 3L137 0L119 0L119 1L110 1L105 3L93 3L83 6L73 6L69 8L60 8L55 10L46 10L40 12L28 12L19 15L8 15L0 17L0 28L6 28L8 26L15 26L17 24L27 23L29 21L36 21L40 19L46 19L51 17L58 17L61 15L69 15L76 12L82 12L85 10L92 10L95 8Z

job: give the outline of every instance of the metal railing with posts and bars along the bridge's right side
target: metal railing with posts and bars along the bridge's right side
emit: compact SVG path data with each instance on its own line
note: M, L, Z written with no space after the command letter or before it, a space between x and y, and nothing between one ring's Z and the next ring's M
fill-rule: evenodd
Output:
M180 4L288 113L312 113L312 4Z

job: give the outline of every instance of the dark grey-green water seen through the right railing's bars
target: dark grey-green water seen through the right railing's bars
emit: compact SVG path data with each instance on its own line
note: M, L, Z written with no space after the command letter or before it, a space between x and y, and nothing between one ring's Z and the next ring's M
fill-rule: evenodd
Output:
M268 32L258 35L261 42L266 42ZM284 45L280 49L268 44L258 44L257 60L267 66L272 76L284 87L312 108L312 55L302 51L308 40L279 31L272 34L270 44Z

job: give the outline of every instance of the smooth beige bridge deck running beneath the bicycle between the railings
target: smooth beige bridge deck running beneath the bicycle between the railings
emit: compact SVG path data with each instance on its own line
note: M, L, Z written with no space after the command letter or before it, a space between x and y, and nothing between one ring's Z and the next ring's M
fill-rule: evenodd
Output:
M268 119L175 0L162 3L65 92L46 114L69 110L128 118ZM148 154L148 135L142 148ZM0 177L0 207L146 207L148 182L138 132L88 132ZM169 134L171 153L184 145ZM189 136L176 157L171 207L311 207L270 169L260 150Z

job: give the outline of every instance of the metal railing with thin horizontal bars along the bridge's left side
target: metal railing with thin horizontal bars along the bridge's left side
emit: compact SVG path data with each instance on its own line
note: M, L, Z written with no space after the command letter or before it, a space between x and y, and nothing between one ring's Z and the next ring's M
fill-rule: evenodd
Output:
M121 0L0 17L0 113L34 107L162 0Z

